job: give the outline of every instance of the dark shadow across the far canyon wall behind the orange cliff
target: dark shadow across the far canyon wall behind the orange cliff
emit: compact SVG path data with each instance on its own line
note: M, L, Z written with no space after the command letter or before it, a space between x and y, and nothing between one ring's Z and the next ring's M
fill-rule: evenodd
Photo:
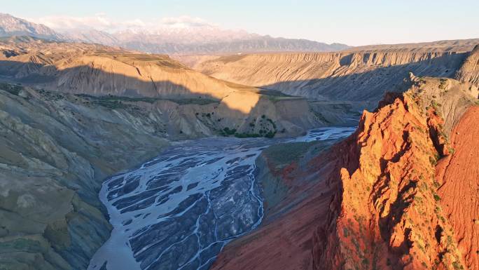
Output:
M384 93L406 90L407 85L403 81L408 78L409 72L416 76L454 78L468 54L451 53L438 58L405 65L378 67L373 70L367 70L368 67L365 66L363 72L347 74L347 68L352 65L352 54L349 54L340 59L340 67L332 76L299 81L281 81L260 87L317 100L372 102L375 106Z

